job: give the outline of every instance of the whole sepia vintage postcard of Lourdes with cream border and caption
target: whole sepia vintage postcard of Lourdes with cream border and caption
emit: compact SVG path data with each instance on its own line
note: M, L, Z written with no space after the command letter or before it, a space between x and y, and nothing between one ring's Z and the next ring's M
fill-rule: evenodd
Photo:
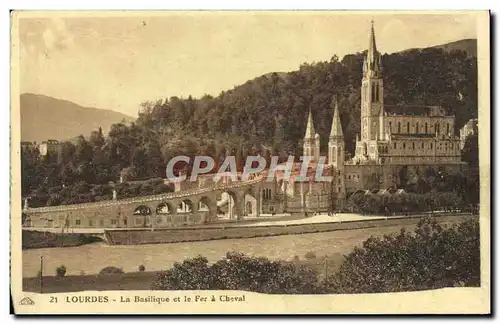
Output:
M489 314L489 21L13 11L15 313Z

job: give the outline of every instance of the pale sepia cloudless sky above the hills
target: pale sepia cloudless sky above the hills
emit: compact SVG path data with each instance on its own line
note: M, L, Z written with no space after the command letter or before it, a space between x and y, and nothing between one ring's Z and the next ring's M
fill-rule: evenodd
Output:
M477 38L471 13L135 12L20 16L20 92L136 116L143 101L218 95L269 72L368 47Z

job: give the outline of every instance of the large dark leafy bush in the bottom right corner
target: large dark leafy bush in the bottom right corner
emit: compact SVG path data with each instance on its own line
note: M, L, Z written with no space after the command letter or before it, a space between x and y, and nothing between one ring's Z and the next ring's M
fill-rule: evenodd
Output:
M480 285L479 223L443 228L430 218L414 233L371 237L328 279L334 293L377 293Z

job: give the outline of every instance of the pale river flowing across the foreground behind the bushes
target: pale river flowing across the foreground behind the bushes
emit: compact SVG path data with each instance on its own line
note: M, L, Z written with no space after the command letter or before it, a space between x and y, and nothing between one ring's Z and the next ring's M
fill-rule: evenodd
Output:
M40 269L40 256L43 256L44 275L54 275L60 265L66 266L67 275L96 274L107 266L133 272L137 271L141 264L146 267L146 271L151 271L168 269L176 261L200 254L210 262L214 262L228 251L285 260L294 256L303 259L309 251L314 252L316 256L345 254L372 235L398 233L400 229L401 226L393 226L203 242L145 245L94 243L78 247L24 250L23 277L37 275Z

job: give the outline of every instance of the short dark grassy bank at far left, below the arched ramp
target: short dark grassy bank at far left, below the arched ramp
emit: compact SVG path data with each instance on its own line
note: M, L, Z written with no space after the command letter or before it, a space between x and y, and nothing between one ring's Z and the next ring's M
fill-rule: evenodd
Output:
M23 231L22 248L24 250L50 247L69 247L99 241L102 241L100 237L88 234L55 234L40 231Z

